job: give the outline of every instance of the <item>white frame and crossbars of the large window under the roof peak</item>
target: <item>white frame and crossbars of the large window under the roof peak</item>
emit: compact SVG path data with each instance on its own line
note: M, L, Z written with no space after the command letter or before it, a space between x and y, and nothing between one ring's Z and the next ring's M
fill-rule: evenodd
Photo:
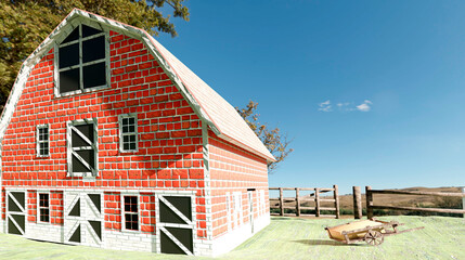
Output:
M82 26L81 25L86 25L86 26L92 27L94 29L102 30L102 32L82 38ZM99 23L87 22L87 21L70 22L68 26L69 27L67 27L66 29L63 29L64 31L67 31L68 34L61 35L55 40L54 48L53 48L54 49L54 81L55 81L54 94L55 94L55 98L81 94L81 93L87 93L87 92L92 92L92 91L109 88L111 87L109 30ZM77 27L79 28L79 38L77 40L61 44L61 42L63 40L65 40L66 37L70 32L73 32L73 30ZM90 40L93 38L98 38L101 36L105 36L105 57L98 60L98 61L92 61L92 62L88 62L88 63L82 64L82 41ZM66 47L66 46L75 44L75 43L79 43L79 64L70 66L70 67L59 68L59 65L60 65L60 57L59 57L60 50L59 49L60 49L60 47ZM101 63L101 62L105 62L106 83L102 84L102 86L96 86L96 87L85 89L83 88L82 68L86 66L92 65L92 64ZM74 69L74 68L79 68L79 90L60 93L60 72L66 72L69 69Z

